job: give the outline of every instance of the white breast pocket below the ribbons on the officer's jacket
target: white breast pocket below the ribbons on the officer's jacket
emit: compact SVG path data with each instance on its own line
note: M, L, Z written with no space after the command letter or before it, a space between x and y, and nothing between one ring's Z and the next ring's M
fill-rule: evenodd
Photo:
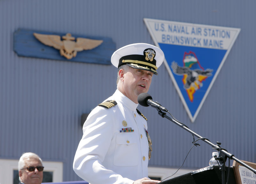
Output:
M134 133L116 135L114 165L136 166L139 162L139 150Z

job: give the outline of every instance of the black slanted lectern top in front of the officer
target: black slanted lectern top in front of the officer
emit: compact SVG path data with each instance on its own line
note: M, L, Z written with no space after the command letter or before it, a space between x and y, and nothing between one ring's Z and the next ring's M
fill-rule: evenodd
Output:
M228 167L226 166L226 182L228 184L236 184L234 171L232 167L229 167L229 177ZM219 166L208 166L191 173L187 173L176 178L167 179L161 181L159 184L222 184L221 183L221 171Z

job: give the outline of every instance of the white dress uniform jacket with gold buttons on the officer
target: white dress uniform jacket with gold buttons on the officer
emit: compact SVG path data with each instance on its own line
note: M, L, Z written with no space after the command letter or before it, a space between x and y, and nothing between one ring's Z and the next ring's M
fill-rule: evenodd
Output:
M148 177L147 121L119 90L108 100L117 105L97 106L87 117L73 169L91 184L132 184Z

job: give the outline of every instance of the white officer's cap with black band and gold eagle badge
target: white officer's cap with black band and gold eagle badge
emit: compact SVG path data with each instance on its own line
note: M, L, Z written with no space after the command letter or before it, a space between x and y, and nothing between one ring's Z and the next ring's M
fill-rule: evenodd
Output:
M129 65L132 68L148 70L157 75L157 68L164 61L164 52L148 43L134 43L116 50L111 63L117 68L121 65Z

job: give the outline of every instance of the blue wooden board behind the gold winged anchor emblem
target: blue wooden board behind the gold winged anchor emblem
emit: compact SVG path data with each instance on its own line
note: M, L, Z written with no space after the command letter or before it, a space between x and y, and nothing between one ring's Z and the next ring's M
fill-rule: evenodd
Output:
M92 50L79 51L77 52L76 57L67 59L60 55L60 50L44 45L42 42L37 40L33 33L59 35L60 37L66 35L66 33L18 29L13 34L13 50L18 56L110 65L111 56L116 50L116 44L111 38L72 34L72 37L75 37L75 41L76 38L80 37L93 40L103 40L103 42Z

